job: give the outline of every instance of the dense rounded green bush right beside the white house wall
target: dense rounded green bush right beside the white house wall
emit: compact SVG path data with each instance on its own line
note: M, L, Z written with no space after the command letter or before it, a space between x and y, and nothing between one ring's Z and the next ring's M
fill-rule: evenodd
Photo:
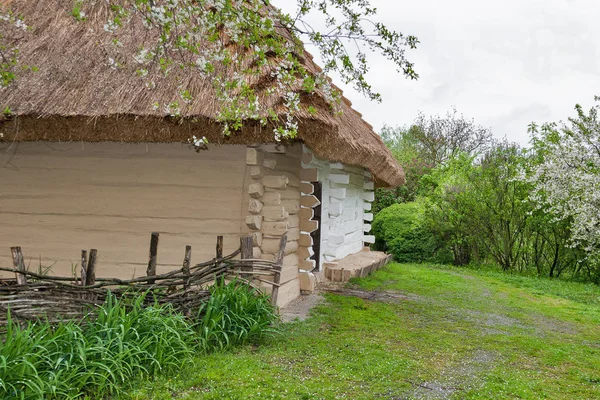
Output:
M424 223L424 207L417 202L394 204L373 221L375 248L398 262L452 262L452 255Z

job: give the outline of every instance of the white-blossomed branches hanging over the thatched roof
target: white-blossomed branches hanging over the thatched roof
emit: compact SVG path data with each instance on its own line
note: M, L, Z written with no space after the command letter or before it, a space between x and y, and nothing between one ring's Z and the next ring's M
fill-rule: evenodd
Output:
M381 96L366 79L368 52L384 55L399 72L417 78L405 57L406 49L416 47L417 38L373 21L377 10L369 0L296 0L296 5L295 13L286 14L269 0L74 0L71 14L80 23L108 15L104 30L111 41L106 62L129 72L125 66L136 65L136 79L144 79L148 90L173 73L209 80L220 103L217 119L226 135L252 119L275 126L276 139L295 137L303 93L318 92L333 111L337 109L341 96L327 78L330 73L379 101ZM99 14L102 7L109 12ZM315 13L323 17L324 29L307 22L309 14L312 18ZM10 8L0 8L0 32L9 32L0 36L4 60L0 88L19 77L19 35L10 32L26 27L26 22ZM136 35L131 34L133 27ZM318 49L322 70L306 62L304 42ZM274 83L266 95L282 102L259 101L264 93L253 83L265 76ZM178 101L156 102L154 107L180 116L193 98L192 91L181 88Z

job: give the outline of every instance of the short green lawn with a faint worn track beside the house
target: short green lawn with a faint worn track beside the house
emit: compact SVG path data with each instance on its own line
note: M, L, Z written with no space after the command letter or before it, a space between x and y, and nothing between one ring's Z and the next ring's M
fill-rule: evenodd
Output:
M406 298L327 295L281 338L122 398L600 398L597 286L401 264L353 284Z

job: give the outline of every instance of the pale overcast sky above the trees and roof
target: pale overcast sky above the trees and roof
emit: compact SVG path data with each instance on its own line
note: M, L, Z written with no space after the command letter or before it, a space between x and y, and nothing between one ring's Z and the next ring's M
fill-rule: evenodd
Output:
M287 2L284 9L295 3L279 3ZM369 80L383 103L344 88L376 130L409 124L419 111L445 114L456 106L495 136L527 144L531 121L564 120L576 103L589 108L600 95L599 0L371 3L388 27L421 41L408 53L418 81L371 57Z

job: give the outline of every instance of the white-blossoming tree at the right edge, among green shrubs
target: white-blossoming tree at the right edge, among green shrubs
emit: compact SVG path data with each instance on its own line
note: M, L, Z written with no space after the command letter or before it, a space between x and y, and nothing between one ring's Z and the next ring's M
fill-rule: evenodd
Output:
M596 97L596 101L600 98ZM569 221L571 245L600 257L600 105L576 106L568 124L530 126L539 162L527 180L531 199L557 221Z

